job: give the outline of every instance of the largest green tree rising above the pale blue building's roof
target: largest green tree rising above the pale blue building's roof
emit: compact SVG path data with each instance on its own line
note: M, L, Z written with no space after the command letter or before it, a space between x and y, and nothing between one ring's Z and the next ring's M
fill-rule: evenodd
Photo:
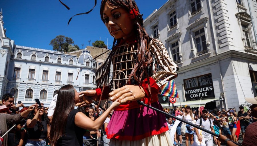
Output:
M64 35L57 35L53 40L51 40L49 45L53 46L53 50L62 51L62 49L64 49L64 52L68 52L68 46L71 44L74 44L71 38L65 37Z

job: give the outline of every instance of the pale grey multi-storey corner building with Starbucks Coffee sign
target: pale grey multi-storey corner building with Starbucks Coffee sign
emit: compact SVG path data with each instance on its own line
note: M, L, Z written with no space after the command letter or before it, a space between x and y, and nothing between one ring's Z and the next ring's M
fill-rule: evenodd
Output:
M257 96L256 20L256 0L169 0L144 20L179 66L174 105L250 106L244 97Z

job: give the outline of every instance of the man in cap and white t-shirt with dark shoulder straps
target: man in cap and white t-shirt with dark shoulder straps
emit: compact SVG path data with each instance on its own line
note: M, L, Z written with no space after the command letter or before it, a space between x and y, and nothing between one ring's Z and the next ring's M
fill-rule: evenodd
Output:
M202 117L201 117L201 121L200 122L200 118L196 121L196 124L195 125L198 125L204 129L207 129L209 131L212 131L214 133L214 129L213 129L213 123L210 121L210 119L208 119L208 111L206 109L202 110ZM198 129L195 128L195 133L198 137L198 141L202 141L202 137L200 136L200 133L198 132ZM213 141L212 141L212 138L211 138L211 134L207 133L207 132L204 132L202 131L202 136L205 140L205 144L206 146L212 146L213 145ZM217 139L215 136L213 136L213 139L214 139L214 142L217 143Z

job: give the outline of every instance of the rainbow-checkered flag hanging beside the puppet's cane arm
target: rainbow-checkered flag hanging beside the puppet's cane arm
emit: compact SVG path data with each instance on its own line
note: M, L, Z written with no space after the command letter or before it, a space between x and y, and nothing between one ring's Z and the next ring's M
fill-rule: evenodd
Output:
M178 98L178 91L174 80L171 80L162 86L161 95Z

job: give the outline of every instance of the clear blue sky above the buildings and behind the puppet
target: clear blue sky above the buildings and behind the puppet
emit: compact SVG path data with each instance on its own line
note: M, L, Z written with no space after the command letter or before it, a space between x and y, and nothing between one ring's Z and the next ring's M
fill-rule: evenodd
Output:
M65 35L73 39L74 44L82 48L101 40L108 45L113 44L113 38L100 18L100 0L89 14L73 17L77 13L89 11L94 0L62 0L70 10L58 0L0 0L3 9L6 35L15 41L16 45L52 50L50 41L57 35ZM159 9L167 0L136 0L140 13L145 19L154 9Z

